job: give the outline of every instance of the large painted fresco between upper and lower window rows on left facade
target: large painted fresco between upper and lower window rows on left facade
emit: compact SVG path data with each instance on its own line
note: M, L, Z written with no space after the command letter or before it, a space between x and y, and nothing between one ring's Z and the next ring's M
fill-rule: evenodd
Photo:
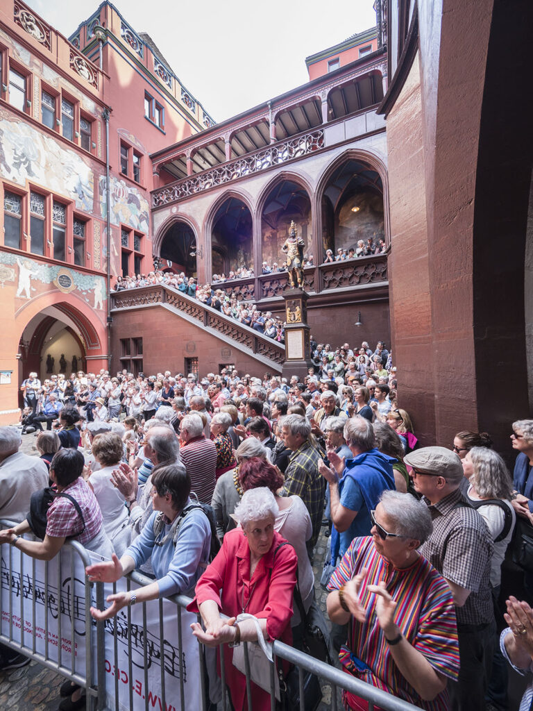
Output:
M94 176L76 151L68 151L47 134L16 121L0 109L0 171L5 178L26 188L26 181L75 201L76 208L92 212Z

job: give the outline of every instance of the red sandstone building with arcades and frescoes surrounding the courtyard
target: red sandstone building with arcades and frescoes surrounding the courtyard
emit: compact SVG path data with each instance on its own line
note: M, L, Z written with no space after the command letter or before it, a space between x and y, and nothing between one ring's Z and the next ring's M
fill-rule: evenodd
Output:
M254 277L217 287L281 313L284 274L262 274L262 262L279 262L294 220L313 257L313 335L390 334L421 441L448 446L456 429L488 429L505 451L533 392L531 141L527 112L502 101L502 87L523 94L531 9L494 0L375 9L376 28L307 58L305 85L215 124L111 5L69 42L23 4L4 3L4 422L19 379L45 375L48 354L56 373L60 353L85 370L109 358L114 370L149 373L229 363L279 372L283 348L173 289L108 301L107 257L112 283L148 272L152 254L201 283L246 264ZM325 262L326 250L368 237L387 252ZM65 351L52 350L58 343Z

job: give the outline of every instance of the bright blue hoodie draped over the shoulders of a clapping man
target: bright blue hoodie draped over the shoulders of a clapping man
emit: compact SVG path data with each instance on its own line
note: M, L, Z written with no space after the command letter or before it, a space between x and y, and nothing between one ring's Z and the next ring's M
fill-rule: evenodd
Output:
M338 533L333 526L331 531L331 564L335 565L337 556L343 557L350 543L358 536L370 535L372 523L370 511L379 503L379 496L386 489L395 489L392 464L396 459L382 454L377 449L369 449L362 454L347 459L343 476L339 480L340 503L345 508L357 510L350 528ZM344 491L344 496L343 496ZM352 504L348 506L347 504Z

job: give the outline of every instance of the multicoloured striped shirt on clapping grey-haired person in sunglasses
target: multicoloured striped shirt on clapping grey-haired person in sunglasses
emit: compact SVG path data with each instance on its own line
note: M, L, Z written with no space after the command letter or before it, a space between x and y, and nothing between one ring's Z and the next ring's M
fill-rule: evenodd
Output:
M408 568L394 568L374 546L371 537L354 538L335 572L328 590L338 590L352 577L367 569L360 589L360 602L367 610L364 624L352 618L351 649L343 646L339 658L348 673L428 711L447 711L446 690L433 701L424 701L397 668L389 645L379 627L377 597L368 584L387 582L387 592L397 603L394 613L402 635L444 676L456 680L459 670L456 613L448 584L421 555ZM354 661L362 662L357 668ZM347 695L348 703L350 695Z

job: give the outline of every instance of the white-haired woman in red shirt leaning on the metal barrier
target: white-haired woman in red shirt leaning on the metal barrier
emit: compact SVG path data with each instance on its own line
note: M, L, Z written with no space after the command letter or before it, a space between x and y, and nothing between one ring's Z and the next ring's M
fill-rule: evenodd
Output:
M242 496L235 509L235 518L242 525L229 531L222 548L198 581L195 599L188 610L200 612L205 630L191 625L198 641L207 646L239 641L257 641L254 621L238 624L240 613L249 613L259 620L266 640L281 639L291 643L291 616L296 584L296 552L274 530L279 508L267 488L255 488ZM220 614L230 619L222 619ZM235 711L247 709L246 680L232 665L233 650L223 648L225 679ZM267 711L270 695L252 681L252 708Z

